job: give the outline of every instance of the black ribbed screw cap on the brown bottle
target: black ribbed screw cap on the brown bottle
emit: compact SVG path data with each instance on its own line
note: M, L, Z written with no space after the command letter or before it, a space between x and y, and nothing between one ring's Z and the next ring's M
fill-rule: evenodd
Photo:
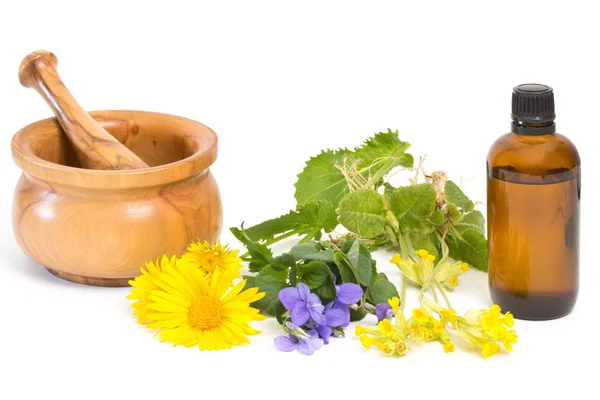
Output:
M554 133L554 92L550 86L525 83L513 89L512 131L524 135Z

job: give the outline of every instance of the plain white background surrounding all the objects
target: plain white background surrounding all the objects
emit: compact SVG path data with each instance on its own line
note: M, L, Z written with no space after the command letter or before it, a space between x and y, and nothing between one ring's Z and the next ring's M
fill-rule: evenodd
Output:
M600 346L594 5L3 1L0 399L555 398L588 389ZM551 85L558 130L583 160L575 311L556 321L517 321L514 352L487 360L444 354L438 344L385 358L363 350L352 327L312 357L280 353L273 320L256 324L263 333L251 345L227 352L162 344L137 325L127 289L61 281L14 242L10 207L20 171L10 138L51 116L39 95L19 85L17 67L41 48L58 56L59 72L86 109L161 111L212 127L220 138L213 171L225 228L293 208L295 175L308 157L388 127L400 130L414 155L427 155L428 170L464 178L465 190L485 201L485 156L509 129L513 86ZM238 245L227 229L222 240ZM378 255L380 268L398 282L388 256ZM486 276L469 272L452 299L460 311L488 307Z

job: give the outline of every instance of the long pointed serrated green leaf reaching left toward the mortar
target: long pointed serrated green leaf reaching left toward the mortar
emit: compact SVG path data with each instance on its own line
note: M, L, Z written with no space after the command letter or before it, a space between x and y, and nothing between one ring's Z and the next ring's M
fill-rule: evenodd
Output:
M278 234L297 231L308 233L315 229L331 232L338 225L335 207L328 201L309 202L299 206L296 211L273 218L246 229L246 235L252 241L271 240Z

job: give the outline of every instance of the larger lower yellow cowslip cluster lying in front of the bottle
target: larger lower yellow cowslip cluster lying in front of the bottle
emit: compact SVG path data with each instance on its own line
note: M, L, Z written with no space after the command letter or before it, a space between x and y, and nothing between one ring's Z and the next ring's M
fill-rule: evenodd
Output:
M397 301L397 298L392 298L388 303L391 305ZM393 309L393 323L384 319L377 326L356 327L356 335L364 347L379 348L386 355L404 355L409 342L439 341L444 351L451 353L455 345L448 330L450 327L458 332L467 345L478 349L484 358L498 353L501 349L499 343L511 351L512 345L517 342L516 332L508 329L513 326L512 314L502 315L497 305L489 310L471 310L461 317L455 310L441 308L428 300L425 307L413 309L408 320L405 320L404 312L399 307Z

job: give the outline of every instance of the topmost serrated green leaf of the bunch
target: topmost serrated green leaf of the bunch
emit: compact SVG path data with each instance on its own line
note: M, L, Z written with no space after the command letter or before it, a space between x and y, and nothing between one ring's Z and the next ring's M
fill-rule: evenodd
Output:
M410 143L398 138L398 131L393 132L388 129L387 132L376 133L362 146L357 147L354 158L360 160L359 170L367 168L374 170L390 161L392 162L392 166L388 167L390 170L397 166L412 168L415 160L413 156L406 153L409 147Z

